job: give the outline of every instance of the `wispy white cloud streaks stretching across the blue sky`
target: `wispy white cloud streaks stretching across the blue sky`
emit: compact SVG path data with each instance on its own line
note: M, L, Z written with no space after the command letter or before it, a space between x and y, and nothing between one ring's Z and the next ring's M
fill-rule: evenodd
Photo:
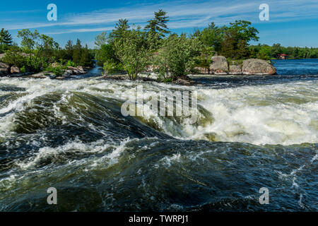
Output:
M206 26L211 21L217 24L232 22L235 19L259 21L259 4L257 1L169 1L162 4L143 4L123 8L107 8L88 13L62 15L57 23L7 23L0 25L8 30L21 28L50 28L50 34L71 32L95 32L111 30L120 18L126 18L130 23L143 25L153 17L153 11L163 8L170 16L169 27L194 28ZM306 18L318 18L317 0L267 0L270 6L271 23ZM87 28L88 25L100 28ZM76 28L78 27L78 28ZM54 31L53 31L54 30Z

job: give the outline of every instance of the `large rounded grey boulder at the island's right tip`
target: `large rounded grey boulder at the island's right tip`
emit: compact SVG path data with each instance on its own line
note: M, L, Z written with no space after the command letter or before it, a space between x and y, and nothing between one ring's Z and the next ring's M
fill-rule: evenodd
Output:
M243 61L242 73L245 75L273 75L276 69L263 59L247 59Z

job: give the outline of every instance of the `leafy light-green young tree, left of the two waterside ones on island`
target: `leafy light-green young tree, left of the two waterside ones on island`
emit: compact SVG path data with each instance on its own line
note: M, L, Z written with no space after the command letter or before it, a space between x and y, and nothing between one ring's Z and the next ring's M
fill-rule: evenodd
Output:
M151 53L147 49L146 32L140 28L124 30L121 38L114 40L114 51L131 80L145 69Z

